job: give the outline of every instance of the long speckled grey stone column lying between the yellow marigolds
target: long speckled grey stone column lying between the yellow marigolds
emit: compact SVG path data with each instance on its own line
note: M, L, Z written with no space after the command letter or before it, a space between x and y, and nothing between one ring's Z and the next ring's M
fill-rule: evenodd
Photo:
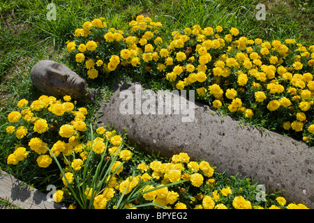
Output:
M103 125L113 124L120 132L125 128L128 139L144 151L154 149L164 157L186 152L193 160L204 158L217 171L253 176L271 192L274 188L284 190L282 195L288 202L314 208L313 148L275 132L240 125L198 102L193 103L195 113L190 122L182 121L184 114L121 114L121 105L126 105L125 89L134 94L135 111L135 86L119 85L100 109L103 116L98 119Z

